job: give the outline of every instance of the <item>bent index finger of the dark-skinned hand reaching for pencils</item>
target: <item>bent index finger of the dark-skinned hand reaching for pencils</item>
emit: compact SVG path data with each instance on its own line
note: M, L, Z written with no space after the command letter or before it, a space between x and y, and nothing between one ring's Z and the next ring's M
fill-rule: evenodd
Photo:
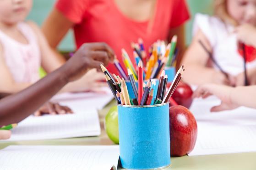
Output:
M109 60L114 61L114 50L104 42L89 43L89 48L93 51L105 51L108 53Z

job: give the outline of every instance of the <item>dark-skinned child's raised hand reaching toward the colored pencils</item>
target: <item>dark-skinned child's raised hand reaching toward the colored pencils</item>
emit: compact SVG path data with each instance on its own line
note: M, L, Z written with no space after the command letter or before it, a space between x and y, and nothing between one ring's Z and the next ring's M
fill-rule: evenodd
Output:
M107 44L85 43L64 66L67 80L69 82L77 80L92 68L96 68L100 72L100 64L106 66L113 60L114 51Z

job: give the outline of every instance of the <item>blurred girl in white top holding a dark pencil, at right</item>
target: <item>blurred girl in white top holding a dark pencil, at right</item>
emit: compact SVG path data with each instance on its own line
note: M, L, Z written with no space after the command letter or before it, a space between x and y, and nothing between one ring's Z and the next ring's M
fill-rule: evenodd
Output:
M244 85L244 58L238 52L238 42L256 44L256 0L214 0L214 4L216 16L196 15L194 37L183 60L184 80L197 85ZM210 60L199 40L228 77ZM256 53L246 58L247 77L250 84L256 84Z

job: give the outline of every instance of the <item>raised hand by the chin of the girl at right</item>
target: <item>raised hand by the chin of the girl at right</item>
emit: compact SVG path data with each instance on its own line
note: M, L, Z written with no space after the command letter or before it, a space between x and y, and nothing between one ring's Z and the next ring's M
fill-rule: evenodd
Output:
M237 39L243 43L256 46L256 28L250 24L243 24L235 28Z

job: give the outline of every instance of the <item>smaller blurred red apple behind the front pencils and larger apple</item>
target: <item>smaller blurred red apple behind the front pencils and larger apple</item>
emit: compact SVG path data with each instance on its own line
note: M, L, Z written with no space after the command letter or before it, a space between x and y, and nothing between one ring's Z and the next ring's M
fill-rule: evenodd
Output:
M170 85L171 83L167 84L167 87L169 88ZM192 94L193 94L193 91L191 87L185 82L180 82L176 90L174 91L172 98L179 105L185 106L186 108L190 108L191 103L193 101ZM171 102L170 102L170 105L171 105Z

